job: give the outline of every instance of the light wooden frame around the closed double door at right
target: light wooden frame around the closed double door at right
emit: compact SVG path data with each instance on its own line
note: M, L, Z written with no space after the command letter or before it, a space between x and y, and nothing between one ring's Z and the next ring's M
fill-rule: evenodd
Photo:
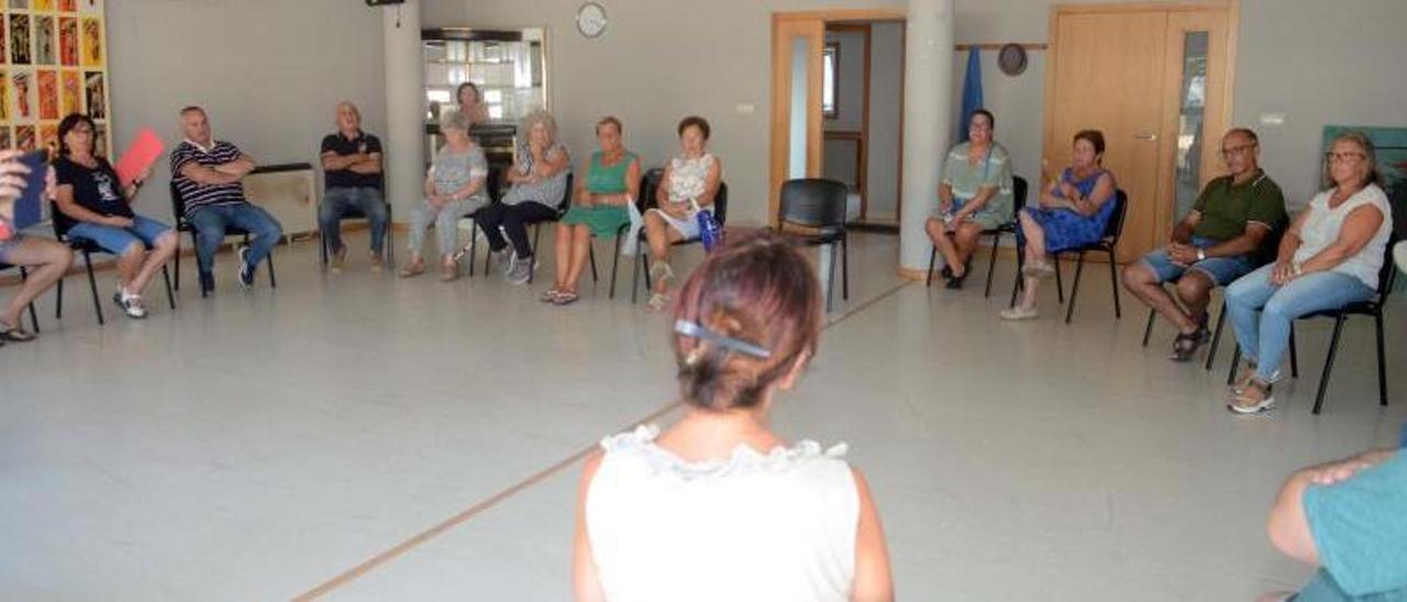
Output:
M1217 98L1223 111L1220 115L1207 115L1203 121L1203 142L1204 149L1211 148L1210 142L1216 139L1220 143L1220 136L1233 127L1234 120L1234 90L1235 90L1235 58L1237 58L1237 32L1241 24L1241 0L1189 0L1176 4L1162 4L1162 3L1137 3L1137 4L1054 4L1050 13L1048 25L1048 39L1051 41L1050 53L1045 66L1045 103L1044 103L1044 141L1041 145L1041 173L1040 186L1045 186L1047 181L1052 179L1052 173L1058 173L1062 166L1054 165L1057 158L1065 156L1061 149L1065 148L1067 141L1057 141L1055 128L1055 83L1057 75L1059 73L1059 48L1055 44L1059 32L1059 20L1064 15L1075 14L1123 14L1123 13L1168 13L1169 17L1186 13L1206 13L1216 14L1224 13L1227 20L1227 39L1225 39L1225 55L1224 55L1224 86ZM1180 45L1178 46L1180 48ZM1169 52L1171 55L1171 52ZM1176 63L1176 69L1173 69ZM1173 93L1180 90L1182 86L1182 56L1178 55L1176 60L1168 58L1165 62L1164 73L1164 93ZM1209 103L1210 104L1210 103ZM1178 124L1176 117L1172 115L1180 103L1173 107L1164 107L1164 118L1158 128L1159 150L1158 150L1158 172L1157 172L1157 193L1154 203L1155 214L1154 224L1159 232L1171 232L1178 217L1172 215L1176 207L1176 191L1172 186L1172 177L1175 170L1169 166L1176 160L1176 132ZM1171 115L1171 117L1169 117ZM1169 131L1171 128L1171 131ZM1216 132L1216 136L1207 134ZM1207 155L1204 153L1203 166L1209 165ZM1211 162L1211 165L1216 165ZM1052 172L1055 170L1055 172ZM1214 177L1213 170L1202 169L1199 187L1206 186Z

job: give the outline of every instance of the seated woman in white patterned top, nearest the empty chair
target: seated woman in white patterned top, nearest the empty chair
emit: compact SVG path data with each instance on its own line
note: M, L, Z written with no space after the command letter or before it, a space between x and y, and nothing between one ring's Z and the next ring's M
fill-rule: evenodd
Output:
M723 177L723 165L708 152L708 121L702 117L685 117L680 121L678 132L682 152L664 167L664 177L654 194L657 207L644 212L650 277L654 278L654 290L646 305L650 311L664 309L670 302L667 293L670 280L674 278L670 245L699 238L698 212L713 205Z

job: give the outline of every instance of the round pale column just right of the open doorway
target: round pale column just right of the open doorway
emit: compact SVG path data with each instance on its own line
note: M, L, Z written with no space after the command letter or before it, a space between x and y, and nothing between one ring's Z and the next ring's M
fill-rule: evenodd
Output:
M905 27L899 273L922 277L931 249L923 224L937 204L938 172L953 139L953 0L909 0Z

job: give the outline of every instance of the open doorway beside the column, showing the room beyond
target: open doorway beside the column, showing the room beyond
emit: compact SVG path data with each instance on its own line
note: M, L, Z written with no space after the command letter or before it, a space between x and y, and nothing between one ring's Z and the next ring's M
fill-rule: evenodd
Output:
M847 218L898 232L903 23L827 23L822 48L822 177L850 188Z

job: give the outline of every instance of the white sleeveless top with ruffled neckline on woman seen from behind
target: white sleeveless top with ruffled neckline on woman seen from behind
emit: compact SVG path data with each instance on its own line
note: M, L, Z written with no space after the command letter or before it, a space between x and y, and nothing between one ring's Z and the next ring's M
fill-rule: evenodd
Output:
M612 602L846 601L860 494L846 446L803 440L768 454L687 463L658 428L601 442L587 534Z

